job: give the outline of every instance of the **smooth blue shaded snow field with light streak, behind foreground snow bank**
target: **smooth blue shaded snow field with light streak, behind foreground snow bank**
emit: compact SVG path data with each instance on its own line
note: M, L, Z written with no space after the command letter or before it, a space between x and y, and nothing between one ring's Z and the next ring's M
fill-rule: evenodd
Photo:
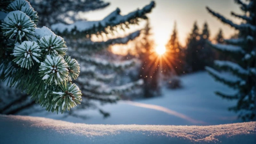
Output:
M234 93L233 89L215 82L207 72L199 72L181 77L182 89L163 88L163 95L153 99L119 101L117 104L101 106L110 112L103 119L96 110L79 112L87 119L48 112L34 113L31 116L43 116L74 123L85 124L159 124L159 125L215 125L241 122L228 107L235 101L222 99L214 91Z

